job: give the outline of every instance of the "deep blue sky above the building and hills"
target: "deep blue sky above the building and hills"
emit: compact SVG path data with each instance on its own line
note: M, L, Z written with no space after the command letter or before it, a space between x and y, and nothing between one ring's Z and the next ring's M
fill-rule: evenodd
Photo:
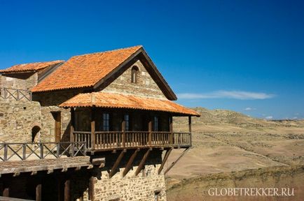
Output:
M304 118L304 1L0 1L0 68L144 45L186 106Z

